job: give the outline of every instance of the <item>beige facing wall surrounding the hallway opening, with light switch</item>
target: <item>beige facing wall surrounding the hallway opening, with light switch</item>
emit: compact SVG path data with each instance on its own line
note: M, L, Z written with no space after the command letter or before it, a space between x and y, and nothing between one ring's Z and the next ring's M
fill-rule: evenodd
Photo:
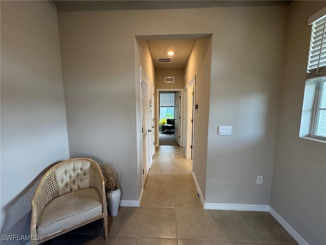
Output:
M114 159L123 172L122 199L138 200L134 36L212 33L210 94L200 93L198 111L208 132L206 200L269 204L286 9L59 12L71 156ZM216 135L222 124L233 126L232 136ZM205 156L202 147L198 154ZM204 182L205 170L198 171ZM257 175L264 176L263 186L256 185Z

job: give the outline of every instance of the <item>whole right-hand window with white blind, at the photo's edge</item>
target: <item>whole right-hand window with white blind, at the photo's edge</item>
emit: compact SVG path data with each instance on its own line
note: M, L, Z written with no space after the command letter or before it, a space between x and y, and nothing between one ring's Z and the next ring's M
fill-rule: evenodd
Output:
M308 19L311 39L300 136L326 140L326 8Z

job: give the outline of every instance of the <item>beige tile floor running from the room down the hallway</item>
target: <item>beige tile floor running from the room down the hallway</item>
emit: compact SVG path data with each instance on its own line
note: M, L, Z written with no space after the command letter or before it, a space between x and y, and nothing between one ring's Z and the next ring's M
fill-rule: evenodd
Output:
M159 146L141 207L120 207L108 226L108 240L98 220L45 244L297 244L267 212L204 210L192 177L192 161L185 159L179 146Z

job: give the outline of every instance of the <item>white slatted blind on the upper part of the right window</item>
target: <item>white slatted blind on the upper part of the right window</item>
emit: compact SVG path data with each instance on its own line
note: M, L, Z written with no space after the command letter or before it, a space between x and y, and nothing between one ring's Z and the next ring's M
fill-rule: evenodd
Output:
M326 16L311 25L307 77L326 76Z

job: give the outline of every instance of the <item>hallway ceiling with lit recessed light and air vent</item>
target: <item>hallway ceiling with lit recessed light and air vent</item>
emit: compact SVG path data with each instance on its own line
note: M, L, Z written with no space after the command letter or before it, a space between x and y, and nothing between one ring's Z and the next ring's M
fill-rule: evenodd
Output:
M196 39L147 40L156 69L183 69L193 50ZM174 55L168 55L173 51ZM171 57L171 63L158 63L157 58Z

